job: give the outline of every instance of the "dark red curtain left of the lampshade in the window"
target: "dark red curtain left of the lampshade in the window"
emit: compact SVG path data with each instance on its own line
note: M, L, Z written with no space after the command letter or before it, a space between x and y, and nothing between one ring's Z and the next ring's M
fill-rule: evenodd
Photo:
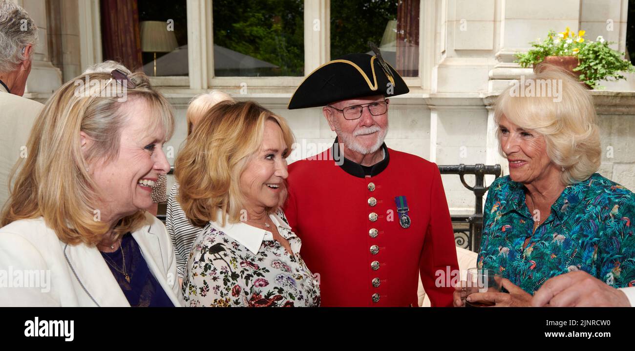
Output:
M104 60L142 69L137 0L101 0Z

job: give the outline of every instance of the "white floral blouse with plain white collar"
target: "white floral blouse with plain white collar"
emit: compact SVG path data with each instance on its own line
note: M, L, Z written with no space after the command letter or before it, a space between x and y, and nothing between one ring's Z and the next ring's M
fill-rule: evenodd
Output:
M182 287L186 306L319 306L319 282L300 257L300 238L281 212L269 216L293 255L269 231L243 222L225 227L210 222L194 241L187 262Z

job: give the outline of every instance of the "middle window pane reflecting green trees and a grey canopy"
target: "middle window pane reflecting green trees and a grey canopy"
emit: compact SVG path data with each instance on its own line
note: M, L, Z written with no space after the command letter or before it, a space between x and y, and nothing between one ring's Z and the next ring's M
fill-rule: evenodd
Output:
M213 0L214 73L304 76L304 0Z

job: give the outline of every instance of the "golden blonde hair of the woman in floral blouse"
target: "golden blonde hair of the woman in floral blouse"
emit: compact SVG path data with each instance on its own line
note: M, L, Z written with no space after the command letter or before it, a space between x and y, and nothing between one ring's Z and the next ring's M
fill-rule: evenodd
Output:
M294 138L286 120L250 101L218 103L187 138L175 161L175 178L180 184L177 200L194 225L203 226L208 221L225 225L228 215L231 223L239 221L244 209L240 178L260 150L267 120L280 126L291 152ZM285 186L279 206L286 194ZM217 218L219 209L222 218ZM271 213L276 209L266 210Z

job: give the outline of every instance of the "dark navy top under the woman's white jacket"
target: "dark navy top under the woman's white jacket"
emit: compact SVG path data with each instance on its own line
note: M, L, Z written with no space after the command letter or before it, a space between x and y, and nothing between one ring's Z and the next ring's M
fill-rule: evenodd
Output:
M122 252L126 260L125 270L123 269ZM117 279L119 287L121 287L131 307L174 307L170 297L150 272L150 268L148 268L144 256L141 255L141 250L132 234L128 233L123 236L121 249L112 253L102 252L102 256L104 256L104 261L110 268L112 275ZM126 281L125 275L119 272L120 270L128 274L130 282Z

